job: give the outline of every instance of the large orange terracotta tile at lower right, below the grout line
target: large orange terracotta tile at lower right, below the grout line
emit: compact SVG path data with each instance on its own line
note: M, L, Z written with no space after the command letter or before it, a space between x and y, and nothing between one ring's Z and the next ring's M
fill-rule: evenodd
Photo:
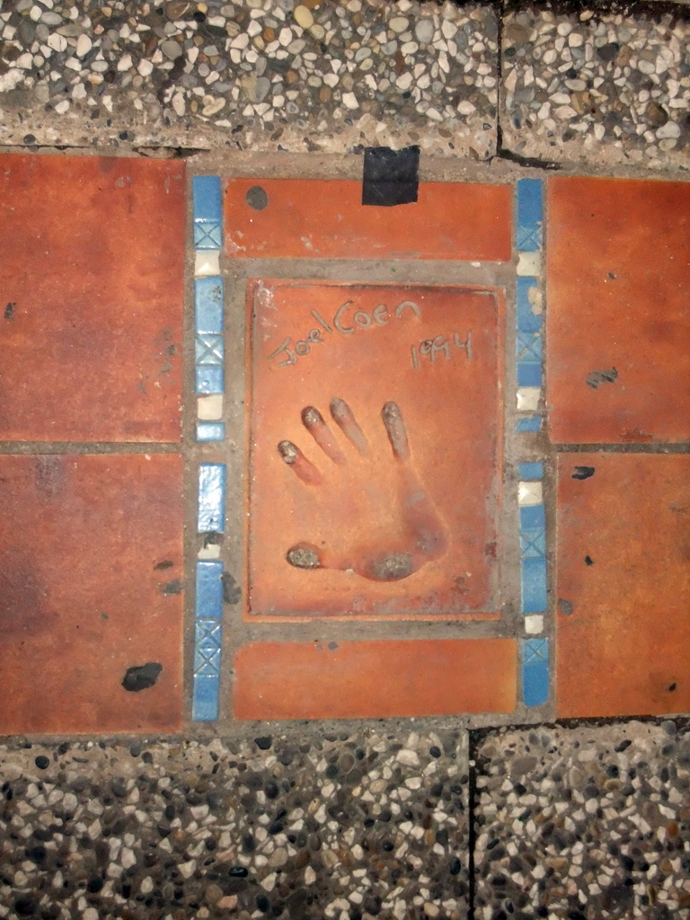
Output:
M561 454L557 711L690 710L690 456Z

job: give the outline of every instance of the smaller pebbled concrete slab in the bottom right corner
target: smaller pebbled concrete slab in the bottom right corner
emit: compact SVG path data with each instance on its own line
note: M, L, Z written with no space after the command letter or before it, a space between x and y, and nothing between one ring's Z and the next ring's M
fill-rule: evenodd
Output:
M476 920L687 918L688 732L665 720L483 736Z

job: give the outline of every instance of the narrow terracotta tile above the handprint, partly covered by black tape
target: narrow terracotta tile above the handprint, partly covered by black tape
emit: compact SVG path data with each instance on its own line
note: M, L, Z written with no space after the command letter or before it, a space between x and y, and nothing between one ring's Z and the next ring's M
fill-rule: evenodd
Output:
M243 259L510 261L511 199L509 185L422 182L416 203L389 208L362 205L362 182L236 178L225 190L225 252Z

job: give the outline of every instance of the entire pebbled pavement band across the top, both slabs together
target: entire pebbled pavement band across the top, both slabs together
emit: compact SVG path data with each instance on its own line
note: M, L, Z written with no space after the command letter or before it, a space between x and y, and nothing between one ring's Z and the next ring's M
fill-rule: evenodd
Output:
M687 168L689 30L684 2L2 0L0 143Z

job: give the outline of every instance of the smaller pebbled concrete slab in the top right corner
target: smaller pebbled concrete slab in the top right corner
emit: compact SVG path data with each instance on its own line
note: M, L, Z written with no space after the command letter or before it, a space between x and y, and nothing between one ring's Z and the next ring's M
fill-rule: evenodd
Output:
M525 8L502 20L500 132L514 155L685 168L690 17Z

